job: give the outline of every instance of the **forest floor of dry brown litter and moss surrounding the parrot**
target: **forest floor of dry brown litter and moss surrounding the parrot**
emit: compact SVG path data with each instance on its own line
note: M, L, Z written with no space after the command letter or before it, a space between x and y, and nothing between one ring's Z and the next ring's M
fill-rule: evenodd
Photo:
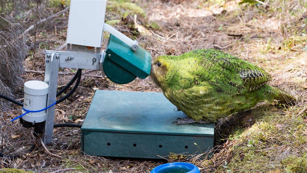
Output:
M307 52L301 51L307 44L307 2L270 1L268 6L239 6L237 1L137 3L145 10L148 23L154 21L161 29L150 28L144 22L142 25L138 22L135 24L133 16L119 22L116 27L137 37L142 47L150 51L153 57L164 54L180 55L200 48L221 49L265 69L273 76L271 85L291 92L298 98L295 106L285 108L278 103L260 104L250 113L236 114L221 120L216 128L216 147L212 158L200 161L197 157L201 156L197 156L185 161L196 164L202 172L286 172L289 165L297 165L284 159L293 155L302 158L307 152L307 115L302 113L297 116L307 103ZM42 34L37 35L37 41L41 44L37 56L27 57L26 69L44 70L43 50L56 49L65 42L67 19L68 15L64 14L53 21L56 30L54 27L40 30ZM144 20L142 17L137 19ZM70 70L72 69L61 69L63 72ZM88 74L100 75L100 72ZM43 80L43 77L36 73L26 73L24 76L25 81ZM59 85L64 85L71 77L72 75L60 76ZM56 123L83 120L95 93L93 88L161 92L148 78L117 85L108 79L83 76L76 93L56 106ZM121 160L84 155L80 153L80 130L72 128L55 129L54 143L48 147L63 159L51 157L42 147L26 154L27 148L34 141L31 130L21 128L17 122L9 123L19 113L20 108L16 107L1 116L1 151L23 153L25 158L2 159L0 162L4 167L38 172L73 167L76 168L74 171L79 172L119 173L150 172L153 167L162 163L157 160ZM11 135L20 136L12 138ZM274 147L277 148L270 149ZM175 160L182 160L182 157L169 157L169 161Z

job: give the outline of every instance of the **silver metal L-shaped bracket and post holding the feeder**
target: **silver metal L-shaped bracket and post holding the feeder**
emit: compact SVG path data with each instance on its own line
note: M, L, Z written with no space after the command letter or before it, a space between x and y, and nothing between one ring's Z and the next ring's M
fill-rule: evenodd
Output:
M80 48L80 46L78 46L79 45L72 45L74 50L78 50L77 48ZM71 49L68 50L70 51L45 51L45 82L49 85L46 106L49 106L56 101L59 68L102 70L102 57L104 56L104 51L103 53L99 53L100 48L96 48L96 53L94 49L91 51L84 49L85 51L82 52L74 52ZM52 143L54 113L55 106L52 106L46 111L43 137L45 145Z

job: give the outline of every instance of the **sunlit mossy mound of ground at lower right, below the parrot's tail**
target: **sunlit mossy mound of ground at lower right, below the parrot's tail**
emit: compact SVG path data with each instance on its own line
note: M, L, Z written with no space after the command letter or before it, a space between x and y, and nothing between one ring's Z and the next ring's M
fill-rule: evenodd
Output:
M220 133L229 136L228 140L233 145L228 149L231 151L228 163L220 165L216 172L304 172L306 153L290 156L282 164L276 157L277 153L289 151L293 145L300 147L307 141L304 118L293 116L293 112L287 111L297 108L281 108L278 105L256 106L243 118L237 118L233 124L221 128ZM296 112L294 114L297 115ZM251 121L250 127L248 121ZM286 146L280 147L282 145Z

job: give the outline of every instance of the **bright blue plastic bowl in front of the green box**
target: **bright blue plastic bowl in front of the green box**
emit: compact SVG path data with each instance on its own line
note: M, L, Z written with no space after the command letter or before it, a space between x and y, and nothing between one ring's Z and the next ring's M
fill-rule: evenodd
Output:
M200 173L200 171L191 163L173 162L157 166L151 173Z

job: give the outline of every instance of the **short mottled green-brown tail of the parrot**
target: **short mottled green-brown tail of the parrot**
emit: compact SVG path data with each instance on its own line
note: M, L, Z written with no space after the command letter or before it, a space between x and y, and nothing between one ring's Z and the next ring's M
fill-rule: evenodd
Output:
M288 92L272 87L270 85L264 84L261 89L263 89L263 99L268 100L269 102L272 102L273 100L279 100L284 103L293 104L296 101L296 98Z

